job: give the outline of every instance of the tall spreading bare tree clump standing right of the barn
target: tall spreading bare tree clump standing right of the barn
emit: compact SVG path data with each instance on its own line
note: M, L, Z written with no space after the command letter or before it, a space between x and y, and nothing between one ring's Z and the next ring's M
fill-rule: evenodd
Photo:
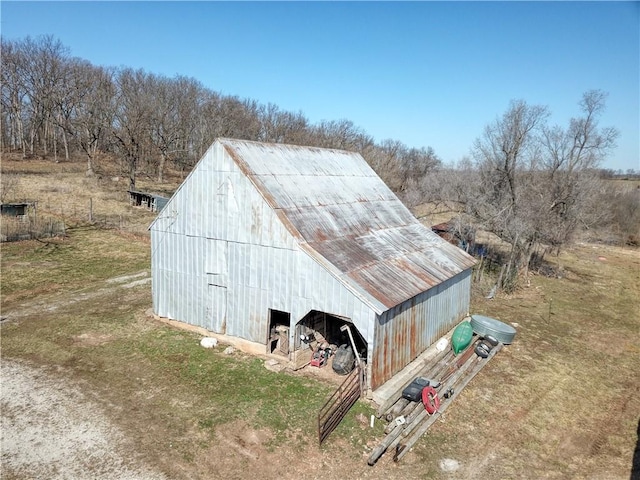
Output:
M559 251L578 228L597 222L596 167L617 136L598 127L605 99L586 92L583 115L566 129L547 126L546 107L515 101L475 142L479 182L465 201L476 221L511 245L501 287L515 286L534 252Z

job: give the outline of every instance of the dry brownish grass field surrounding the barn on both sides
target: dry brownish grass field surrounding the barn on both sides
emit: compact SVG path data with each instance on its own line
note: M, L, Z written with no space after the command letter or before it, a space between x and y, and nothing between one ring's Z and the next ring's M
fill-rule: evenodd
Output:
M387 454L369 467L384 427L369 427L372 406L358 402L318 448L315 415L333 385L271 372L264 359L226 355L224 345L202 349L197 335L148 315L153 214L129 206L124 179L104 167L87 178L81 163L3 161L7 172L18 174L19 197L64 217L68 229L64 238L2 244L3 394L11 380L36 382L2 399L3 479L631 478L640 420L638 250L579 244L550 259L558 276L533 275L529 286L493 300L475 295L472 313L516 326L514 343L401 462ZM179 179L161 188L144 182L141 190L170 191ZM89 199L95 225L87 224ZM57 396L44 397L57 399L52 411L36 408L54 387ZM82 435L101 435L96 450L107 451L104 442L113 450L88 452L91 461L78 458L86 465L77 470L60 457L18 461L17 438L6 432L18 434L5 427L23 425L26 413L29 425L50 421L73 403L65 392L76 404L69 414L95 419ZM50 452L61 440L31 442ZM443 459L459 469L442 471Z

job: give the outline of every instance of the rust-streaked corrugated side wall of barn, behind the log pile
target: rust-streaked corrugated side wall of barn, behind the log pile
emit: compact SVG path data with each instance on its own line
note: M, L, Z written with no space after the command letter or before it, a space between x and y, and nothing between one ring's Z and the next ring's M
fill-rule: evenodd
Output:
M389 380L447 333L469 309L471 270L376 317L372 388Z

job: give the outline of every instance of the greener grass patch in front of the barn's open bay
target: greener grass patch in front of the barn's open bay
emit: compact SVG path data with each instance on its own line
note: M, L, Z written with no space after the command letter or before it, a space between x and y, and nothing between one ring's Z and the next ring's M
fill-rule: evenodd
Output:
M282 438L291 429L311 435L317 412L331 393L330 387L310 379L266 370L259 358L203 349L197 336L179 330L148 332L132 348L202 398L207 415L198 420L201 428L242 418Z

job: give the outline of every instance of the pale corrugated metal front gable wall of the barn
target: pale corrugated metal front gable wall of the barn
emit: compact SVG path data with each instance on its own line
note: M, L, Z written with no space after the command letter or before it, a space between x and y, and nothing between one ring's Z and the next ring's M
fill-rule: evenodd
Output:
M375 312L300 249L223 149L207 152L151 238L158 315L265 343L269 309L292 322L318 310L351 318L372 341Z

